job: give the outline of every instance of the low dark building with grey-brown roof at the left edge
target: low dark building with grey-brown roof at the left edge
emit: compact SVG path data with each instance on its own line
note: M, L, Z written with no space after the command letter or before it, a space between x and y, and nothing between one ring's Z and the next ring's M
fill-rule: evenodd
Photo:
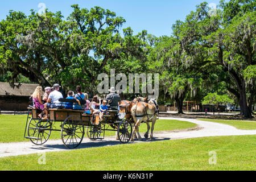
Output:
M18 85L18 84L15 84ZM19 89L11 88L9 83L0 82L0 109L1 110L27 110L31 105L29 97L38 84L22 84Z

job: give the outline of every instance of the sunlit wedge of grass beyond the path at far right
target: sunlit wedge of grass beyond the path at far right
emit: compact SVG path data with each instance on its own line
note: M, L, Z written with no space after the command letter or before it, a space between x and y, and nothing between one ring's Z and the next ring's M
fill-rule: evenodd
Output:
M216 123L223 123L226 125L231 125L240 130L256 130L255 121L236 121L236 120L225 120L225 119L198 119L201 121L210 121Z

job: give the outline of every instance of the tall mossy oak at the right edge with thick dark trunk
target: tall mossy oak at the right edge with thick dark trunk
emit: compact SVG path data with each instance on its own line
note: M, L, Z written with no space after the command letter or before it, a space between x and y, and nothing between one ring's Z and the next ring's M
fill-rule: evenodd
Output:
M207 3L201 3L185 22L177 23L175 31L188 55L187 60L201 65L196 66L198 70L220 69L218 73L228 74L222 81L237 97L241 112L247 118L251 118L250 106L255 97L254 5L254 1L232 0L221 2L222 9L212 11Z

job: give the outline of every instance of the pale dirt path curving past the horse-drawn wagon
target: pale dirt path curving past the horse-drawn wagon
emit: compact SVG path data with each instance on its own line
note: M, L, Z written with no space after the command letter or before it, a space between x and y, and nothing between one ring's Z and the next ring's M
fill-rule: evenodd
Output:
M188 121L196 123L198 126L192 130L180 130L180 131L160 131L155 132L154 141L160 140L173 140L184 138L198 138L198 137L213 137L213 136L229 136L229 135L255 135L256 130L238 130L236 127L224 125L221 123L214 123L208 121L198 121L196 119L188 118L171 118L164 117L160 119L175 119L180 121ZM142 134L141 134L142 135ZM142 135L143 136L143 135ZM139 142L152 142L151 140L138 141ZM78 148L89 147L102 147L113 146L115 144L121 144L114 137L106 137L104 140L98 140L92 142L88 138L84 138ZM0 143L0 158L5 156L26 155L40 152L54 152L54 151L67 151L61 140L48 140L42 146L37 146L31 142L15 142L15 143Z

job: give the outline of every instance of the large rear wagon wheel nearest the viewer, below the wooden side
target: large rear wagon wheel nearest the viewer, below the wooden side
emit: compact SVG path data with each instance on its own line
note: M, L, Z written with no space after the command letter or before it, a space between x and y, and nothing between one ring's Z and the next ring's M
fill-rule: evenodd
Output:
M78 115L69 115L61 127L61 139L65 147L76 148L84 138L84 125Z

